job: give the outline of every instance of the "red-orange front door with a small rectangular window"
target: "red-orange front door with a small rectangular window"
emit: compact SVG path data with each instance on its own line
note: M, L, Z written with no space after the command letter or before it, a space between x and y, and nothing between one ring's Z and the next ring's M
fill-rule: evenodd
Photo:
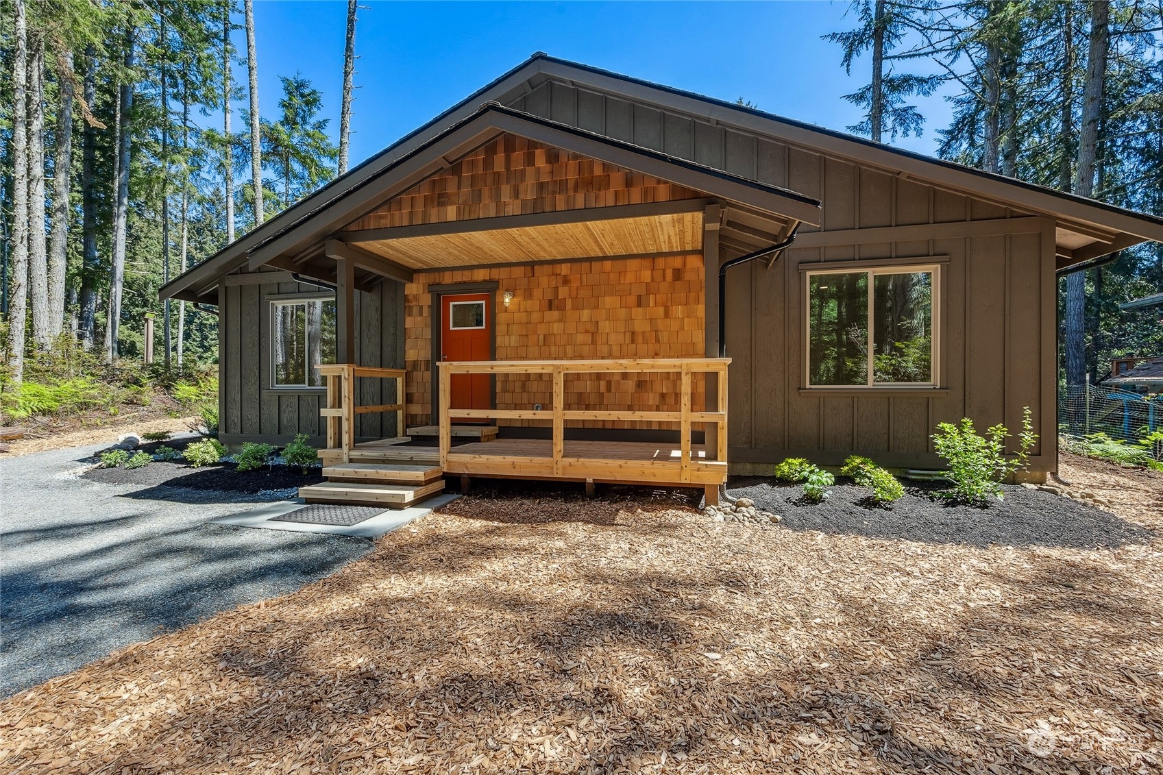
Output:
M441 360L488 361L493 333L488 327L488 293L441 297ZM452 375L455 408L491 408L492 382L486 374ZM486 422L487 420L479 420ZM459 420L464 422L464 420Z

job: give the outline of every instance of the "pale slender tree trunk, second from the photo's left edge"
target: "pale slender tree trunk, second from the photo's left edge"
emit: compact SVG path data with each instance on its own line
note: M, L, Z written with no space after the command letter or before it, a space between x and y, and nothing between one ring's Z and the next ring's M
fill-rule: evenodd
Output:
M52 342L49 319L49 254L44 239L44 34L29 41L28 61L28 296L33 307L33 342L47 350Z

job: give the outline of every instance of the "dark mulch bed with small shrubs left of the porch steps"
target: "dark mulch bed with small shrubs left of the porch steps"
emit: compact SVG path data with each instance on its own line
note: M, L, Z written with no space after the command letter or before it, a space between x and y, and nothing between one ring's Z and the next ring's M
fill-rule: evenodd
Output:
M177 447L177 445L170 445ZM185 488L187 490L217 490L255 495L267 490L287 490L323 481L321 469L301 469L288 465L267 465L254 471L236 470L234 463L219 463L193 468L185 461L156 460L142 468L94 468L81 478L106 484L128 484L143 488Z

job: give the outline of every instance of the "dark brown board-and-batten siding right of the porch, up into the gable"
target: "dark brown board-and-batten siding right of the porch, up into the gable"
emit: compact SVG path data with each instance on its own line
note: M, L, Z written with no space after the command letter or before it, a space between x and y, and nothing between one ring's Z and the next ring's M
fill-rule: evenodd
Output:
M802 455L839 463L861 452L885 465L937 468L929 434L940 421L1021 427L1041 435L1033 470L1056 468L1056 279L1054 223L993 202L723 125L547 80L512 107L733 175L786 186L822 204L822 223L769 268L730 271L730 460L771 463ZM1012 219L997 227L976 221ZM899 239L882 227L932 225ZM878 229L875 237L861 229ZM843 233L827 236L822 233ZM879 242L871 242L878 239ZM812 247L815 246L815 247ZM734 257L720 250L719 261ZM915 257L942 262L941 389L805 390L801 266ZM718 315L718 272L707 266L707 322ZM707 355L718 347L707 337Z

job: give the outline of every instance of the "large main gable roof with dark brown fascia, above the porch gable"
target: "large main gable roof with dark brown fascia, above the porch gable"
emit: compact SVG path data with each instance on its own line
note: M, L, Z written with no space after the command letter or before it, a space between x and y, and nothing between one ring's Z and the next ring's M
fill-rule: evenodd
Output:
M545 80L615 95L632 102L657 106L712 125L730 126L818 152L880 166L901 177L911 177L919 182L955 189L983 199L1012 205L1019 209L1048 215L1058 223L1059 242L1066 243L1066 247L1059 244L1058 250L1066 265L1096 258L1143 241L1163 242L1163 218L1114 207L1076 194L1001 175L983 172L763 111L537 52L431 121L351 169L348 173L336 178L306 199L243 235L206 262L176 278L162 289L163 298L205 299L212 297L216 278L247 264L249 253L274 243L292 229L301 227L305 220L312 219L333 204L349 198L356 190L402 162L405 157L455 130L461 122L479 115L486 104L494 104L487 105L487 109L494 115L506 113L511 116L522 116L534 123L548 121L501 107L501 104L512 104L519 100L522 94L531 92ZM592 140L632 145L602 135L584 133L562 123L548 123L562 130L588 135ZM658 154L658 151L641 147L633 148L643 154ZM678 159L673 156L664 154L661 156L672 163L693 164L693 162ZM448 159L445 159L447 162ZM702 169L711 170L711 168L705 166ZM726 172L718 170L716 172L727 176ZM745 180L737 176L728 177L734 177L736 182ZM786 194L794 193L786 190L780 191ZM809 200L809 198L799 195Z

